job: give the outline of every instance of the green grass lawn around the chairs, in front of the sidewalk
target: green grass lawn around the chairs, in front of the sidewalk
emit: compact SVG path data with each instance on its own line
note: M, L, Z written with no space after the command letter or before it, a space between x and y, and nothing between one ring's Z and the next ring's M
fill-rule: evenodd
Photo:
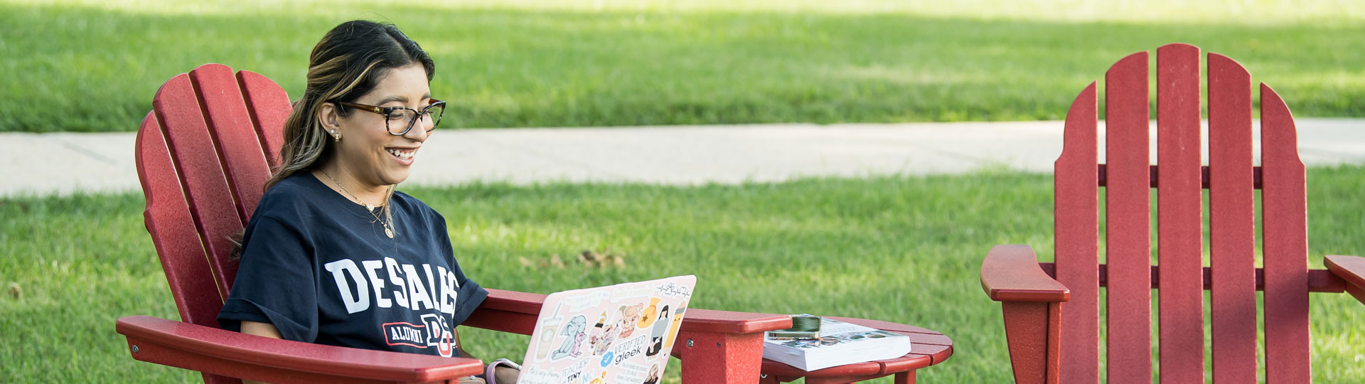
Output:
M1308 178L1310 265L1321 268L1324 254L1365 256L1365 168L1313 168ZM410 193L446 216L456 256L487 287L551 292L693 273L695 307L916 324L956 343L953 358L920 373L924 383L1007 383L1001 309L977 273L992 245L1026 243L1050 258L1051 186L1048 175L984 172ZM132 361L113 332L121 316L176 318L142 208L141 194L0 200L0 381L198 380ZM583 250L620 254L624 266L583 266L572 258ZM554 256L566 265L520 261ZM1365 380L1365 306L1343 294L1312 298L1316 380ZM520 357L527 342L464 332L485 358Z

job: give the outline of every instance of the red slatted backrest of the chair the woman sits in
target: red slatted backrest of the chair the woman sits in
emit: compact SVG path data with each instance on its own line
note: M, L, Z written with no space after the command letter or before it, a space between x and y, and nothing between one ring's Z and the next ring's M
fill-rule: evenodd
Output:
M205 64L161 86L136 138L143 212L180 318L217 327L228 261L278 164L291 107L265 77Z

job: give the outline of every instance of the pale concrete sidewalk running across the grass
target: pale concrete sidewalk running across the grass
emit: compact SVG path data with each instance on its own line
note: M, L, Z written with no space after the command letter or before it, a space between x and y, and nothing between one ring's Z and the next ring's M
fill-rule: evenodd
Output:
M1365 163L1365 119L1295 122L1304 163ZM141 190L134 137L0 134L0 197ZM405 184L699 184L984 167L1050 172L1061 150L1062 122L438 130Z

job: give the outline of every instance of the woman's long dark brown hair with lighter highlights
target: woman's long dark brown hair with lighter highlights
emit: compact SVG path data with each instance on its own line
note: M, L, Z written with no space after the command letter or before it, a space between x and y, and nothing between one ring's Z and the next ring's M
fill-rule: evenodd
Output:
M265 182L265 189L332 160L332 137L318 122L318 108L324 102L354 102L370 93L389 70L415 63L422 64L430 82L435 75L431 56L390 23L349 20L322 36L308 56L308 85L303 97L293 102L293 112L284 120L280 167ZM348 111L337 108L337 113L344 118Z

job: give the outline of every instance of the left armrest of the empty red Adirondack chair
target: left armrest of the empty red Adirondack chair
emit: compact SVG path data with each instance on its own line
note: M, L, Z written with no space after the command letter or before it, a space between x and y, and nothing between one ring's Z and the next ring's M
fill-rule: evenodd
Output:
M1065 302L1072 291L1039 266L1033 249L1020 245L995 246L981 262L981 290L992 301Z

